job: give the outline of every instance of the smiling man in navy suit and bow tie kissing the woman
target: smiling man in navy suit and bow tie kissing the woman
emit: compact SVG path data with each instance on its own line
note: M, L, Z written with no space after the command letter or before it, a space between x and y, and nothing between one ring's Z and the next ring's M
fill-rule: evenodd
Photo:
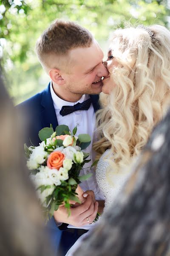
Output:
M108 70L102 64L103 52L91 33L74 22L56 20L45 30L36 44L37 56L51 82L41 93L17 106L27 120L27 144L39 145L38 132L44 127L55 128L77 125L77 134L88 133L91 145L91 162L84 166L81 175L93 172L89 166L94 160L92 144L95 140L95 112L99 109L98 94L102 91L102 76ZM80 104L78 104L80 103ZM71 217L65 207L59 207L48 223L53 243L65 254L74 242L85 233L103 204L103 195L97 186L95 175L80 184L87 191L85 203L74 208ZM92 190L89 192L89 190ZM94 204L94 195L97 204ZM61 231L65 230L65 231Z

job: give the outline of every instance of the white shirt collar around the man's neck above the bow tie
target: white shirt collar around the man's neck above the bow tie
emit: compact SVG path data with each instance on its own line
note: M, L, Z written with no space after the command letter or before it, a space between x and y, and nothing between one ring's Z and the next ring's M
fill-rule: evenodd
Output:
M88 94L83 94L81 99L79 99L77 102L67 102L67 101L59 98L59 96L57 96L57 94L54 93L53 86L52 86L52 81L50 82L50 91L51 91L51 97L52 97L52 100L53 100L55 110L57 110L57 109L61 110L62 106L74 106L78 102L82 103L85 100L90 98L90 96Z

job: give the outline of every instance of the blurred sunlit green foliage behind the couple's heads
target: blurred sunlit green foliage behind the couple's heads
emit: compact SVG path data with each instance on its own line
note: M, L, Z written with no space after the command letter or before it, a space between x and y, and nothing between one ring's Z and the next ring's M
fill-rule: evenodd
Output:
M125 22L168 26L170 10L163 0L0 0L0 52L8 73L8 91L16 103L46 86L34 52L37 38L56 18L74 20L89 29L106 51L111 32Z

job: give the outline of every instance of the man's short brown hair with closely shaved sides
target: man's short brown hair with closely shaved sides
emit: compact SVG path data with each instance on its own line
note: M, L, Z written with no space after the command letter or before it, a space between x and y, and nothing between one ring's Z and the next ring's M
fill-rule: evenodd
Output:
M59 68L59 58L68 55L69 50L90 47L92 41L91 32L77 23L55 20L37 40L35 50L42 67L48 72L51 68ZM54 56L58 59L51 61L52 56L53 60Z

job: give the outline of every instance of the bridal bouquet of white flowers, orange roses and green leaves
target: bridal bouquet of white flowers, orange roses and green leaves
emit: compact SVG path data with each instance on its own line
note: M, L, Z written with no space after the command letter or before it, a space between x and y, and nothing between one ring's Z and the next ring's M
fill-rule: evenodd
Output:
M51 125L39 131L42 141L39 146L28 148L24 145L30 178L47 221L63 203L70 215L69 200L81 203L77 197L77 185L91 177L91 174L79 176L83 165L90 161L87 160L89 154L82 150L90 145L91 137L88 134L76 137L76 132L77 127L71 132L67 125L58 125L54 131Z

